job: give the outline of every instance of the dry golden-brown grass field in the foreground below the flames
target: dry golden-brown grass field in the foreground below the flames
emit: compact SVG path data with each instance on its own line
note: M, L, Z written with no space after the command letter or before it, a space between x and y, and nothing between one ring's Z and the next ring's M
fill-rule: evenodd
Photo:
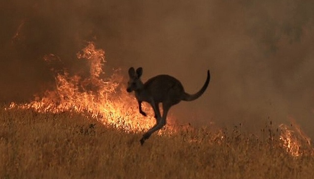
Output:
M276 140L236 130L212 135L154 134L141 147L141 134L78 114L2 107L0 179L313 179L312 155L293 157Z

